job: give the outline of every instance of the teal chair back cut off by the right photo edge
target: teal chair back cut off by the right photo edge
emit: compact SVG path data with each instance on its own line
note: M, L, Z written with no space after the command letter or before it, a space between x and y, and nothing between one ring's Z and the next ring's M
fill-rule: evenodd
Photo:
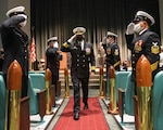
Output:
M154 130L163 129L163 72L159 72L154 77L153 90L153 127Z

